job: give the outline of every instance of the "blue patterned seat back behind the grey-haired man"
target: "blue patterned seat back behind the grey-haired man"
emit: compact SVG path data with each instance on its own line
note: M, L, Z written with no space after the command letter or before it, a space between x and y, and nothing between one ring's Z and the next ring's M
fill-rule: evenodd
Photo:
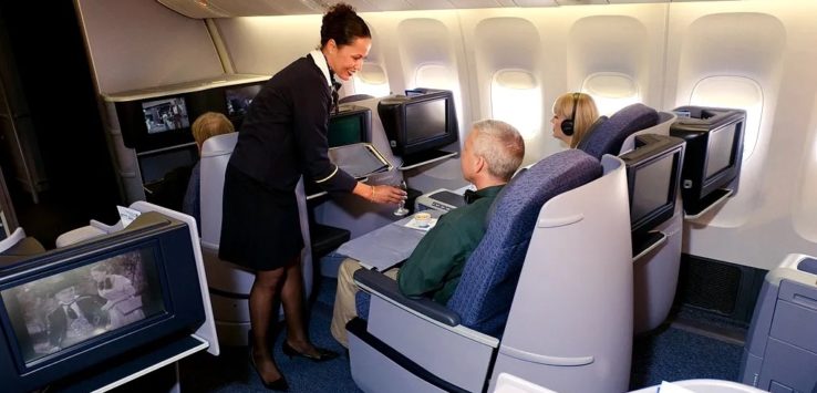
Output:
M539 210L550 198L600 177L599 161L569 149L540 161L505 187L485 237L465 266L447 307L461 323L499 337L514 300Z

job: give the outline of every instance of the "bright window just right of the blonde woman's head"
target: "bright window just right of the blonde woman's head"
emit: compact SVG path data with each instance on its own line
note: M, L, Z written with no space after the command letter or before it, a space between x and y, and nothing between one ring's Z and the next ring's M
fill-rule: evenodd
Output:
M585 79L581 91L593 97L600 115L610 116L627 105L641 102L638 83L619 72L591 74Z

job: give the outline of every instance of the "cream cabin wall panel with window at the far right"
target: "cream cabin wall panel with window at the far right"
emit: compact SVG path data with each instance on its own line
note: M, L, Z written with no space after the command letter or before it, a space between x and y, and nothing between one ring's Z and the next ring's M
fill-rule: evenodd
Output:
M808 238L817 225L810 224L814 215L795 218L803 205L798 199L814 198L813 186L800 183L815 170L804 153L814 133L807 127L814 113L815 83L808 81L815 76L808 69L817 64L815 18L817 7L806 2L717 2L705 9L671 4L668 107L689 104L704 77L746 77L763 91L756 142L745 143L740 192L716 211L687 223L686 252L772 269L786 254L817 251L815 238Z

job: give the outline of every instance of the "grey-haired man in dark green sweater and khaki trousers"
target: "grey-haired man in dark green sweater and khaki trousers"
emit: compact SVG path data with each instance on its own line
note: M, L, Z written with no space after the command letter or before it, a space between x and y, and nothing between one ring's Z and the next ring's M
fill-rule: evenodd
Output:
M477 190L466 193L467 206L442 216L400 269L384 275L396 279L408 297L430 297L445 304L459 282L465 261L487 228L486 215L494 198L508 183L525 156L525 142L514 126L493 120L474 123L461 154L463 177ZM361 266L347 259L338 271L332 313L332 335L349 347L347 322L356 317L352 276Z

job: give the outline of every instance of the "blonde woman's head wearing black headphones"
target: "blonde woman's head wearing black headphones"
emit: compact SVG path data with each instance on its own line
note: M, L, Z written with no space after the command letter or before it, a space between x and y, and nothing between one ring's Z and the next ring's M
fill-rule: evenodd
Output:
M576 148L599 117L593 97L585 93L565 93L554 102L554 137Z

